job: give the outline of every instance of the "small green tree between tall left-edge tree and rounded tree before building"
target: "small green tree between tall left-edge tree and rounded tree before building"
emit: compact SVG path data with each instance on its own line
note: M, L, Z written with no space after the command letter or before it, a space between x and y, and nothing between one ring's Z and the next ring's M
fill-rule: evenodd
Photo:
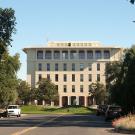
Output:
M26 81L20 81L17 87L18 92L18 100L24 102L24 104L28 104L30 101L31 89Z

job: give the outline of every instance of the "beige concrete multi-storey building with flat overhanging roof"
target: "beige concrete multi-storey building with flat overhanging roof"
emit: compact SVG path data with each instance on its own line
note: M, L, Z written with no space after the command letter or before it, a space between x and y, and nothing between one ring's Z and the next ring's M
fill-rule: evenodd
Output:
M36 87L41 78L57 85L59 106L90 105L89 85L105 84L105 65L118 61L122 49L100 42L48 42L45 47L27 47L27 82Z

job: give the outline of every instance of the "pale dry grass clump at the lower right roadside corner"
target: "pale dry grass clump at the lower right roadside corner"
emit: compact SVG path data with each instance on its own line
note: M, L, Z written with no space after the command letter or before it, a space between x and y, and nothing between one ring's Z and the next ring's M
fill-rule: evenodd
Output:
M129 114L128 116L116 119L113 121L113 126L117 130L135 131L135 115Z

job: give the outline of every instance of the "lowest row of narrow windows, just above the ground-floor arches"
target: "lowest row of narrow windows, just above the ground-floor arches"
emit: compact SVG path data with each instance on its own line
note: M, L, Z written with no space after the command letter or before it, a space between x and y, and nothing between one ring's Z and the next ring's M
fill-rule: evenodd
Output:
M57 87L57 90L58 90L58 85L56 85L56 87ZM89 85L88 86L88 92L91 90L91 86ZM76 92L76 88L75 88L75 85L72 85L72 90L71 90L72 92ZM67 85L63 85L63 92L64 93L66 93L66 92L68 92L68 90L67 90ZM77 91L78 92L78 91ZM80 85L80 92L82 93L82 92L84 92L84 86L83 85Z

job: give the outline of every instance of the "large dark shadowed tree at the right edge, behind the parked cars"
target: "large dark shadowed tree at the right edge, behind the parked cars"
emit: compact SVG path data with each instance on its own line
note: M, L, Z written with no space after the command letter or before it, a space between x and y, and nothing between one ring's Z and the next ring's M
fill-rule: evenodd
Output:
M127 112L134 112L135 47L133 46L125 52L124 59L120 64L116 64L116 62L109 64L106 67L106 74L108 75L107 83L111 102L121 105ZM112 83L111 80L115 81Z

